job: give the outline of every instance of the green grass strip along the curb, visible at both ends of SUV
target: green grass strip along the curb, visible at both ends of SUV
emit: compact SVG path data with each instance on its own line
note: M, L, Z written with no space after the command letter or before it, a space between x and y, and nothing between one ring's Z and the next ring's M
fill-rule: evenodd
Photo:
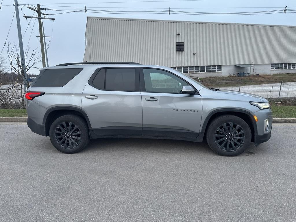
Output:
M294 117L296 118L296 106L272 106L274 117ZM24 117L27 110L1 110L0 117Z

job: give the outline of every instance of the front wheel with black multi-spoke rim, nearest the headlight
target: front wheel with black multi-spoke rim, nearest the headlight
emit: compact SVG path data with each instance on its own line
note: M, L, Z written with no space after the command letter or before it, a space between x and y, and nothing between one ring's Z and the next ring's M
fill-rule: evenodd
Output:
M250 146L252 133L243 119L234 115L222 115L210 123L206 138L214 152L222 156L237 156Z

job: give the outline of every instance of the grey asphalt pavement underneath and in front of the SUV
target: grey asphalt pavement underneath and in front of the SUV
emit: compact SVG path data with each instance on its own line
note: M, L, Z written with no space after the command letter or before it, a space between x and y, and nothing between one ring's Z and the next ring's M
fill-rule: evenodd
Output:
M205 143L97 139L63 154L0 123L0 221L295 221L296 124L237 157Z

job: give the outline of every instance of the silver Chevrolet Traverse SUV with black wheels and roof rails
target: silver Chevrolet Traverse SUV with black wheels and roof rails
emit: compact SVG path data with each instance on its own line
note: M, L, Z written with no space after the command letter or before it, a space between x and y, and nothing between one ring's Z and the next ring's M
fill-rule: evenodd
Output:
M262 97L209 89L178 71L133 62L67 63L43 68L25 94L28 126L64 153L106 137L202 142L223 156L271 136Z

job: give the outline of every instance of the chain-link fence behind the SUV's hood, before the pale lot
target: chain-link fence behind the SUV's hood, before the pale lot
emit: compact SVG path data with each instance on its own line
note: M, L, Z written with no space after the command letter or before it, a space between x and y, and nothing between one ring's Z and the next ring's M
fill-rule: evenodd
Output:
M204 86L247 92L266 99L295 98L296 82L287 81L219 81L201 82Z

